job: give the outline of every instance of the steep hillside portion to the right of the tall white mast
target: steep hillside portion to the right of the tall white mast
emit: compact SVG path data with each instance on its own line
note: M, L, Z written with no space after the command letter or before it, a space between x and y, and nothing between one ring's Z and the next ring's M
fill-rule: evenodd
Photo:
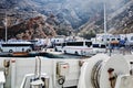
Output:
M122 9L121 9L122 10ZM123 11L109 20L109 32L119 33L133 33L133 1L131 0L126 6L123 7Z

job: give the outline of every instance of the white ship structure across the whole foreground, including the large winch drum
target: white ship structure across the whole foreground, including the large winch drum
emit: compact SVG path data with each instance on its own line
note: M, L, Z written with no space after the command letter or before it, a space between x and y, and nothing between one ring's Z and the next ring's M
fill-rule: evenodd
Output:
M38 58L41 64L37 64ZM103 63L99 63L100 61ZM116 76L108 73L110 68L114 68ZM112 81L109 80L112 76L116 79L114 88L130 88L133 86L133 55L98 54L86 59L0 57L0 72L4 73L0 74L3 77L0 80L1 88L43 88L40 87L42 85L47 86L45 88L95 88L95 82L99 88L112 88ZM38 75L49 81L44 80L48 82L43 84L42 80L34 80ZM38 85L39 87L34 87Z

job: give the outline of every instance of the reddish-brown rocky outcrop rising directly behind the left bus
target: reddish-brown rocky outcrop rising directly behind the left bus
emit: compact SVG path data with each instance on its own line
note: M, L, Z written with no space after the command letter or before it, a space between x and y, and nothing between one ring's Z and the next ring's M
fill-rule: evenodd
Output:
M4 29L0 29L0 33L2 33L0 37L3 38ZM8 26L8 38L44 38L47 36L54 36L55 34L53 26L48 24L42 16L32 18L17 25Z

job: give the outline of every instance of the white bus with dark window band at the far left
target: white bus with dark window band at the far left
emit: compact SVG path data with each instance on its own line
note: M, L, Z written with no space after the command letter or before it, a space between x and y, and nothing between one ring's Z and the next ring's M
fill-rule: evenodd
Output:
M33 44L30 42L8 42L1 44L1 52L31 52Z

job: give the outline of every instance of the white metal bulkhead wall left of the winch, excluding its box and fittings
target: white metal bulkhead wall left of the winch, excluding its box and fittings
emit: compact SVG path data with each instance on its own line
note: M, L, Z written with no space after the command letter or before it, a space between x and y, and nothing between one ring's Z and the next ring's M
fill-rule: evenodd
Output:
M69 64L70 68L68 75L65 76L64 87L76 86L80 76L80 66L76 58L71 59L59 59L59 58L41 58L41 73L45 73L50 77L50 88L61 88L62 86L58 85L57 77L57 63L65 62ZM3 59L16 59L16 62L10 63L8 79L4 85L4 88L20 88L23 81L23 78L29 74L34 74L35 57L0 57L0 68L3 69ZM11 84L10 84L11 82Z

